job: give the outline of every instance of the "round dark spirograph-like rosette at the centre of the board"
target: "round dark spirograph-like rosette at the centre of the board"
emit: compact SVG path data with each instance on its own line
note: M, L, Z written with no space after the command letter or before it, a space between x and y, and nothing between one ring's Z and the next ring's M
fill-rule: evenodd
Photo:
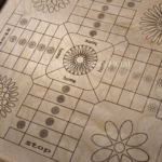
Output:
M63 64L65 69L72 75L85 75L95 68L97 54L87 45L77 45L67 51Z

